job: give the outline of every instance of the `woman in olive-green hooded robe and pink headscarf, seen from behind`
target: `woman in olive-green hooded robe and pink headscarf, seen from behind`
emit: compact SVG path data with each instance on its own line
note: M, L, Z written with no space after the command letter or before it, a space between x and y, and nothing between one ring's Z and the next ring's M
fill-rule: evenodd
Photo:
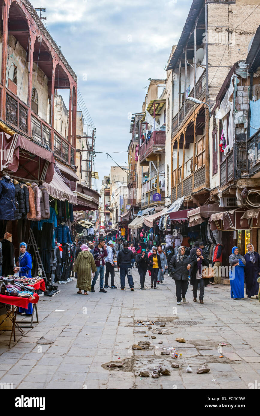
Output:
M96 272L97 267L87 245L82 244L80 248L82 251L77 255L73 271L77 272L78 295L82 295L81 290L84 290L84 295L88 295L87 292L91 292L91 271Z

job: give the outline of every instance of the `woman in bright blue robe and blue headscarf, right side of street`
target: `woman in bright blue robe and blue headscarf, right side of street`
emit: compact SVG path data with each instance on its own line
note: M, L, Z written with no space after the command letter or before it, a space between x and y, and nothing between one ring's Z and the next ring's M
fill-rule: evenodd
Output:
M233 247L232 254L229 256L229 264L232 267L229 272L231 297L233 297L234 300L243 299L245 297L245 259L239 254L238 247Z

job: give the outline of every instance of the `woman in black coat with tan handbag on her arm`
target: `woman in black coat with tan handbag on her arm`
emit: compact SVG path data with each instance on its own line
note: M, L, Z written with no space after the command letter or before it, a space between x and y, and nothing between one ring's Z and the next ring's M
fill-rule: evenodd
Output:
M204 303L203 296L205 286L209 284L210 280L203 277L203 266L209 267L210 263L208 259L203 257L201 248L197 248L196 254L193 255L191 262L193 263L193 269L191 272L190 284L193 285L193 302L197 302L198 282L200 282L200 303Z

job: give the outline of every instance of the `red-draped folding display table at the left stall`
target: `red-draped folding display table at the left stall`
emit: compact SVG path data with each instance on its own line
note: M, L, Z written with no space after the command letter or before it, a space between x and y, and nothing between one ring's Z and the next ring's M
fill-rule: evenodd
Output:
M38 282L38 283L40 283L40 282ZM15 328L17 328L21 332L22 335L23 335L23 332L24 332L23 329L21 329L21 327L18 325L18 322L16 322L18 307L28 309L28 304L32 303L33 304L33 310L32 310L32 319L31 319L31 322L30 322L31 327L32 327L32 320L33 320L34 311L36 311L37 322L39 322L38 312L37 312L37 303L39 301L39 295L37 295L37 293L35 293L34 297L35 297L35 299L29 299L27 297L0 295L0 302L1 303L6 303L7 305L12 305L12 309L10 311L7 310L7 316L6 316L6 318L10 317L10 319L13 322L10 341L9 341L9 344L8 344L9 347L10 347L10 344L11 344L12 336L14 336L14 341L15 341ZM0 327L1 327L3 322L4 321L0 322ZM21 323L23 323L23 322L21 322Z

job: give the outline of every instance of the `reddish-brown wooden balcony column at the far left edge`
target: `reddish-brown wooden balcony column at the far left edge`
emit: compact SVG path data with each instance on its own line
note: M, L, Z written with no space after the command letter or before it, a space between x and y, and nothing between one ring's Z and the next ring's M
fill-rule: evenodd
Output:
M5 120L5 101L6 101L6 64L7 64L7 50L8 50L8 18L9 18L9 7L10 0L2 2L2 20L3 20L3 31L2 31L2 69L1 69L1 80L3 89L1 92L1 114L2 119Z

